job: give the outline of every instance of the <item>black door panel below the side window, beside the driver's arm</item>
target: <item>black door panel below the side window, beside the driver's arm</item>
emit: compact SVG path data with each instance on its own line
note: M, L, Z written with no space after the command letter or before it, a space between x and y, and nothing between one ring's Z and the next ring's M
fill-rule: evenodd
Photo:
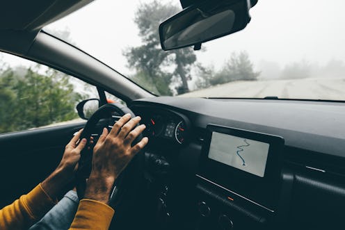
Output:
M0 206L45 179L60 163L65 145L85 122L0 135Z

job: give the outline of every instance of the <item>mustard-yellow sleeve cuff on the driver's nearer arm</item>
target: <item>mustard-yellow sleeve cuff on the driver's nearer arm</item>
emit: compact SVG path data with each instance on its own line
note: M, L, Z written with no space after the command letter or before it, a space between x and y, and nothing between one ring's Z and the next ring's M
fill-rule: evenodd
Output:
M107 230L113 215L114 210L110 206L92 199L82 199L70 230Z

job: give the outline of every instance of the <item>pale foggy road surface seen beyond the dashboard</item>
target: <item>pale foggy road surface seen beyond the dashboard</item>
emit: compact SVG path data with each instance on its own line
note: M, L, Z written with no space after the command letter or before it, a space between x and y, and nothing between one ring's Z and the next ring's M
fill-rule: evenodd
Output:
M345 77L338 79L294 79L235 81L180 97L251 97L275 96L285 99L345 100Z

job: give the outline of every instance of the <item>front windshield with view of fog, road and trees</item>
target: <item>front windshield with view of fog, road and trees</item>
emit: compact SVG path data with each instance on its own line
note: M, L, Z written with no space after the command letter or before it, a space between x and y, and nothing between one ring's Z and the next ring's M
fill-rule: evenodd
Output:
M248 26L163 51L173 1L97 0L45 27L156 95L345 100L345 2L259 0Z

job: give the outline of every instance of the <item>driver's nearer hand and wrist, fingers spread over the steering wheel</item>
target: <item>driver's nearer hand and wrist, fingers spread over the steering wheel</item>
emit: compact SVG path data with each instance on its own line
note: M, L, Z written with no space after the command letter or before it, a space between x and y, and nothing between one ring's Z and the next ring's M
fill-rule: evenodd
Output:
M148 138L143 138L133 147L132 142L140 135L145 125L134 127L141 117L126 114L111 129L103 129L93 149L93 168L86 186L85 198L108 203L111 188L118 175L129 161L147 145ZM132 130L133 129L133 130Z

